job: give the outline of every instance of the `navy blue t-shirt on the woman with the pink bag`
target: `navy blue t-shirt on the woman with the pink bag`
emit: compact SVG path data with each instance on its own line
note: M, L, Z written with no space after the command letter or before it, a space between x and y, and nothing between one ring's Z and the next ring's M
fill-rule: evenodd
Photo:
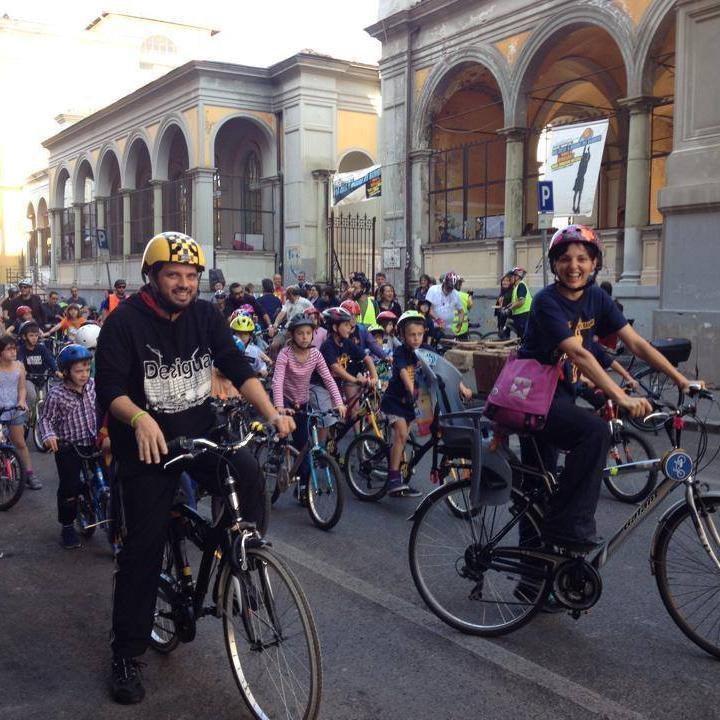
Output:
M585 288L579 300L569 300L556 285L548 285L534 298L527 330L518 357L534 358L544 365L560 359L560 343L573 335L582 337L586 350L593 351L594 337L616 333L627 325L625 316L613 299L597 285ZM573 388L579 371L570 362L563 368L564 382Z

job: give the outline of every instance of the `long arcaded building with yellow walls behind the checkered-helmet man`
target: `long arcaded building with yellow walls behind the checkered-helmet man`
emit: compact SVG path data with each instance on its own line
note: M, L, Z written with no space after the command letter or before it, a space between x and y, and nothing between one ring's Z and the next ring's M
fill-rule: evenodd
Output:
M269 68L186 63L43 143L31 263L60 288L133 286L148 238L173 229L228 280L324 278L329 176L376 162L379 90L376 66L312 52Z

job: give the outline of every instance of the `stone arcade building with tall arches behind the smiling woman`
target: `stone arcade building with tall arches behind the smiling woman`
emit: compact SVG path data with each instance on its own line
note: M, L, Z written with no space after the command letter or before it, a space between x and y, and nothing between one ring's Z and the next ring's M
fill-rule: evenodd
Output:
M720 2L381 0L379 15L396 285L453 268L490 297L518 264L539 286L542 143L607 117L593 215L576 219L639 330L690 337L720 380Z

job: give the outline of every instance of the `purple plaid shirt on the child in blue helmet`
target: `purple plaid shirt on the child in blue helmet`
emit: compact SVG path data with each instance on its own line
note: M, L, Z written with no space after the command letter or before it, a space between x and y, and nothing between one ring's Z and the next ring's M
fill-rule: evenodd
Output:
M65 383L53 385L40 418L40 436L73 443L94 443L97 435L95 414L95 381L91 378L81 393Z

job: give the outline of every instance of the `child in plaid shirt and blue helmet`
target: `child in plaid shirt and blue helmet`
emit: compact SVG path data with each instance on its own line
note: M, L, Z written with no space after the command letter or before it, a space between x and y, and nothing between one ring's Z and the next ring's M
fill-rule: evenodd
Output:
M81 490L81 460L70 445L83 448L84 454L95 450L97 417L95 381L90 377L92 353L82 345L66 345L58 354L58 368L63 382L48 392L40 436L45 447L55 454L60 484L57 493L57 518L62 526L60 542L66 549L81 547L75 531L77 496Z

